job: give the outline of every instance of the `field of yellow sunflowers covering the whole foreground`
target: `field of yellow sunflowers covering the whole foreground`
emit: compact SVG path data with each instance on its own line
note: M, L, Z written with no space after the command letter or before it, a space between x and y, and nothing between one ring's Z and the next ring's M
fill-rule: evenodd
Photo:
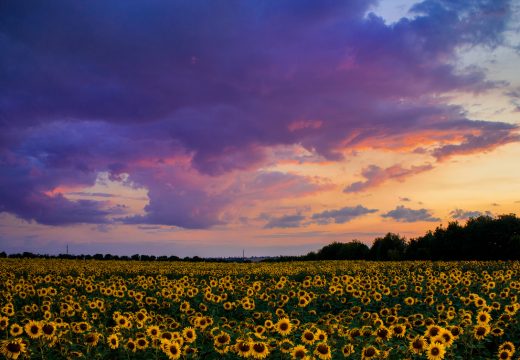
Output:
M519 262L0 260L8 359L519 359Z

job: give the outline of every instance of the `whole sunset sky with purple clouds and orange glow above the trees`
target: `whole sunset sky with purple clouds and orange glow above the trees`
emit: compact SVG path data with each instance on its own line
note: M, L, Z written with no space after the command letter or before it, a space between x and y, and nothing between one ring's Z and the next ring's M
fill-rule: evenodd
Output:
M520 213L520 1L0 2L0 251L227 257Z

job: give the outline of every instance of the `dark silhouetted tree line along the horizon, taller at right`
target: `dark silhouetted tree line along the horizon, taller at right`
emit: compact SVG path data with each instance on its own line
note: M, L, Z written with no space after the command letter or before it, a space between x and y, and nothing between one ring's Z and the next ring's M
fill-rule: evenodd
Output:
M242 258L201 258L198 256L139 255L39 255L31 252L7 255L0 258L59 258L81 260L136 260L136 261L214 261L250 262ZM464 225L457 221L447 227L438 226L425 235L406 240L395 233L387 233L374 239L372 246L359 240L347 243L333 242L318 251L302 256L279 256L262 261L308 261L308 260L520 260L520 218L515 214L497 217L479 216L470 218Z

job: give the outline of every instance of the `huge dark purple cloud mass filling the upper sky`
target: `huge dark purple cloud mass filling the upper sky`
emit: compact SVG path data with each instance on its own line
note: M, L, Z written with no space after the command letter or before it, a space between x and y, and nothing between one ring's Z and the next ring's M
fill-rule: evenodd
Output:
M146 214L125 221L208 227L254 193L217 191L210 179L256 171L274 146L337 161L345 150L398 151L420 139L442 160L519 141L516 125L468 119L439 96L501 86L485 69L458 69L457 49L500 45L509 1L427 0L390 25L366 15L373 4L3 2L0 211L109 222L111 205L46 195L108 171L149 190ZM177 183L161 176L164 164ZM252 177L245 187L265 180Z

